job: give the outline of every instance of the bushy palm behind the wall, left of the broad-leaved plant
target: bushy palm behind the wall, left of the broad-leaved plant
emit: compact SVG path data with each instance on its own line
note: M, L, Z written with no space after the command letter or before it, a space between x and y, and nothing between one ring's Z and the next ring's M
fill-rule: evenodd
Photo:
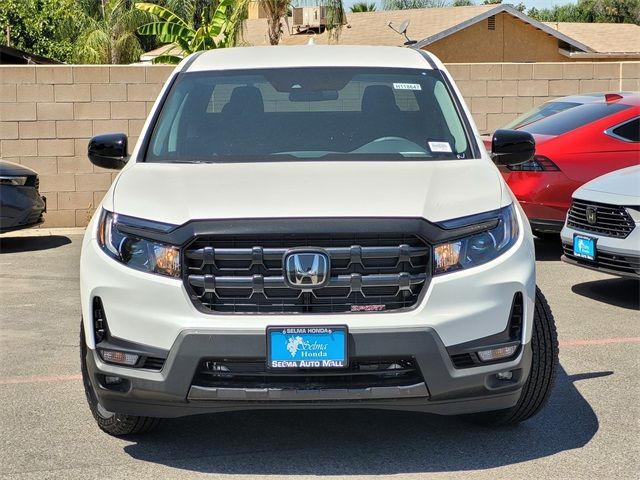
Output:
M148 20L131 0L79 0L84 18L74 60L79 63L132 63L143 53L136 28Z

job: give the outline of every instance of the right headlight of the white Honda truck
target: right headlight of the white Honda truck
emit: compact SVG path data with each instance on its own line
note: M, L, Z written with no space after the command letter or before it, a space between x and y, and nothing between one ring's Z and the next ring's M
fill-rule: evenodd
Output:
M518 238L515 207L511 204L499 210L496 216L498 224L490 230L436 245L433 249L433 274L482 265L507 251Z

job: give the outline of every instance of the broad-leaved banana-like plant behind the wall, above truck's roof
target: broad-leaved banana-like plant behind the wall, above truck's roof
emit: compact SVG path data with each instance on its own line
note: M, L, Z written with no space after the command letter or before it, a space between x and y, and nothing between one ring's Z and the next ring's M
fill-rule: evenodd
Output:
M141 35L154 35L162 43L176 45L185 56L200 50L224 48L230 46L232 30L235 28L230 18L233 2L234 0L221 0L217 7L210 6L209 9L203 10L198 27L193 21L181 18L160 5L136 3L135 7L138 10L147 12L157 19L138 27L138 32ZM180 60L181 56L166 54L155 58L154 63L177 64Z

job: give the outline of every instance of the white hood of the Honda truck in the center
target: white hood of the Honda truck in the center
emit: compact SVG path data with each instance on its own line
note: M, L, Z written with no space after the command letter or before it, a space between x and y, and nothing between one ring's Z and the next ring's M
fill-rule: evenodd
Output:
M511 202L487 160L135 163L113 192L115 212L174 225L278 217L441 221Z

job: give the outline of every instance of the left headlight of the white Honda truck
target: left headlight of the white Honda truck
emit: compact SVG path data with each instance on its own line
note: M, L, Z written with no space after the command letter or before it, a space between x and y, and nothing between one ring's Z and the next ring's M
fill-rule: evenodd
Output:
M118 215L102 211L98 244L111 258L143 272L180 277L180 250L120 232Z

